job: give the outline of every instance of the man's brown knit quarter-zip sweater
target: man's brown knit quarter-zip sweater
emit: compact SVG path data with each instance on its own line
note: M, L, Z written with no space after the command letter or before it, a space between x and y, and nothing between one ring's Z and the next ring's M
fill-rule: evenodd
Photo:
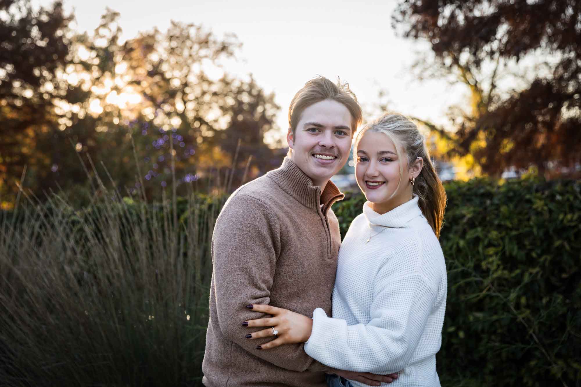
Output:
M203 383L224 386L317 386L325 374L303 344L259 350L271 339L245 335L263 328L242 322L264 316L248 304L270 304L312 316L331 316L340 245L331 205L343 194L321 188L286 158L282 166L232 193L214 227L210 322ZM321 208L321 204L323 205Z

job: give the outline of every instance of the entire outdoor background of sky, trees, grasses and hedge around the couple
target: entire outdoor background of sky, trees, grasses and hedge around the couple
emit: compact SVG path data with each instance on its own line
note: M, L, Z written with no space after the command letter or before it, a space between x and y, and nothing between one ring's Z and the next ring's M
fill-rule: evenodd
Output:
M442 385L580 386L581 0L0 0L0 385L201 386L214 223L318 74L444 180Z

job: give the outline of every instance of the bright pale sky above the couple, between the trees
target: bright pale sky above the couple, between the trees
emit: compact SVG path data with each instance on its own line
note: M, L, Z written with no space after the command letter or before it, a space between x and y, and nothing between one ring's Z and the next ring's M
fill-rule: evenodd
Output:
M396 0L63 2L67 10L74 9L76 29L89 33L107 7L121 14L123 39L155 26L164 31L171 20L201 24L218 37L234 33L242 49L238 62L226 63L225 71L241 77L252 73L258 85L274 92L281 106L276 121L283 132L288 129L290 100L317 75L347 81L364 107L375 106L383 89L390 110L439 124L446 122L447 108L467 95L467 90L442 80L414 78L410 66L428 45L396 37L391 19Z

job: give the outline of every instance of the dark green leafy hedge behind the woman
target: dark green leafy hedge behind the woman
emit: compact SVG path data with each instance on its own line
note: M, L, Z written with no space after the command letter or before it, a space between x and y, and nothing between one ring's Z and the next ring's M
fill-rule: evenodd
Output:
M581 380L581 182L446 184L442 385ZM335 207L342 234L365 199Z

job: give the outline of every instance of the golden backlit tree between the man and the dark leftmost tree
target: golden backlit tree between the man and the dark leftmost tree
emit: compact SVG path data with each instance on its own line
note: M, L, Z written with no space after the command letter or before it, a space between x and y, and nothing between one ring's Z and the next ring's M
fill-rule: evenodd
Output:
M145 178L160 180L156 170L168 167L167 131L173 132L171 139L178 138L175 147L180 152L175 160L184 170L182 181L205 176L212 169L234 168L237 185L250 155L248 177L280 164L264 144L264 134L275 129L279 107L274 95L264 94L252 76L234 78L218 67L220 59L231 59L239 46L234 37L217 40L200 26L173 22L167 33L141 33L119 50L123 56L118 65L126 68L124 74L130 78L126 87L141 96L122 114L139 123L138 134L144 135L146 142L139 148L145 148L144 160L152 166ZM210 77L208 70L222 75ZM155 141L146 135L152 128L161 133ZM153 158L151 152L160 154Z

